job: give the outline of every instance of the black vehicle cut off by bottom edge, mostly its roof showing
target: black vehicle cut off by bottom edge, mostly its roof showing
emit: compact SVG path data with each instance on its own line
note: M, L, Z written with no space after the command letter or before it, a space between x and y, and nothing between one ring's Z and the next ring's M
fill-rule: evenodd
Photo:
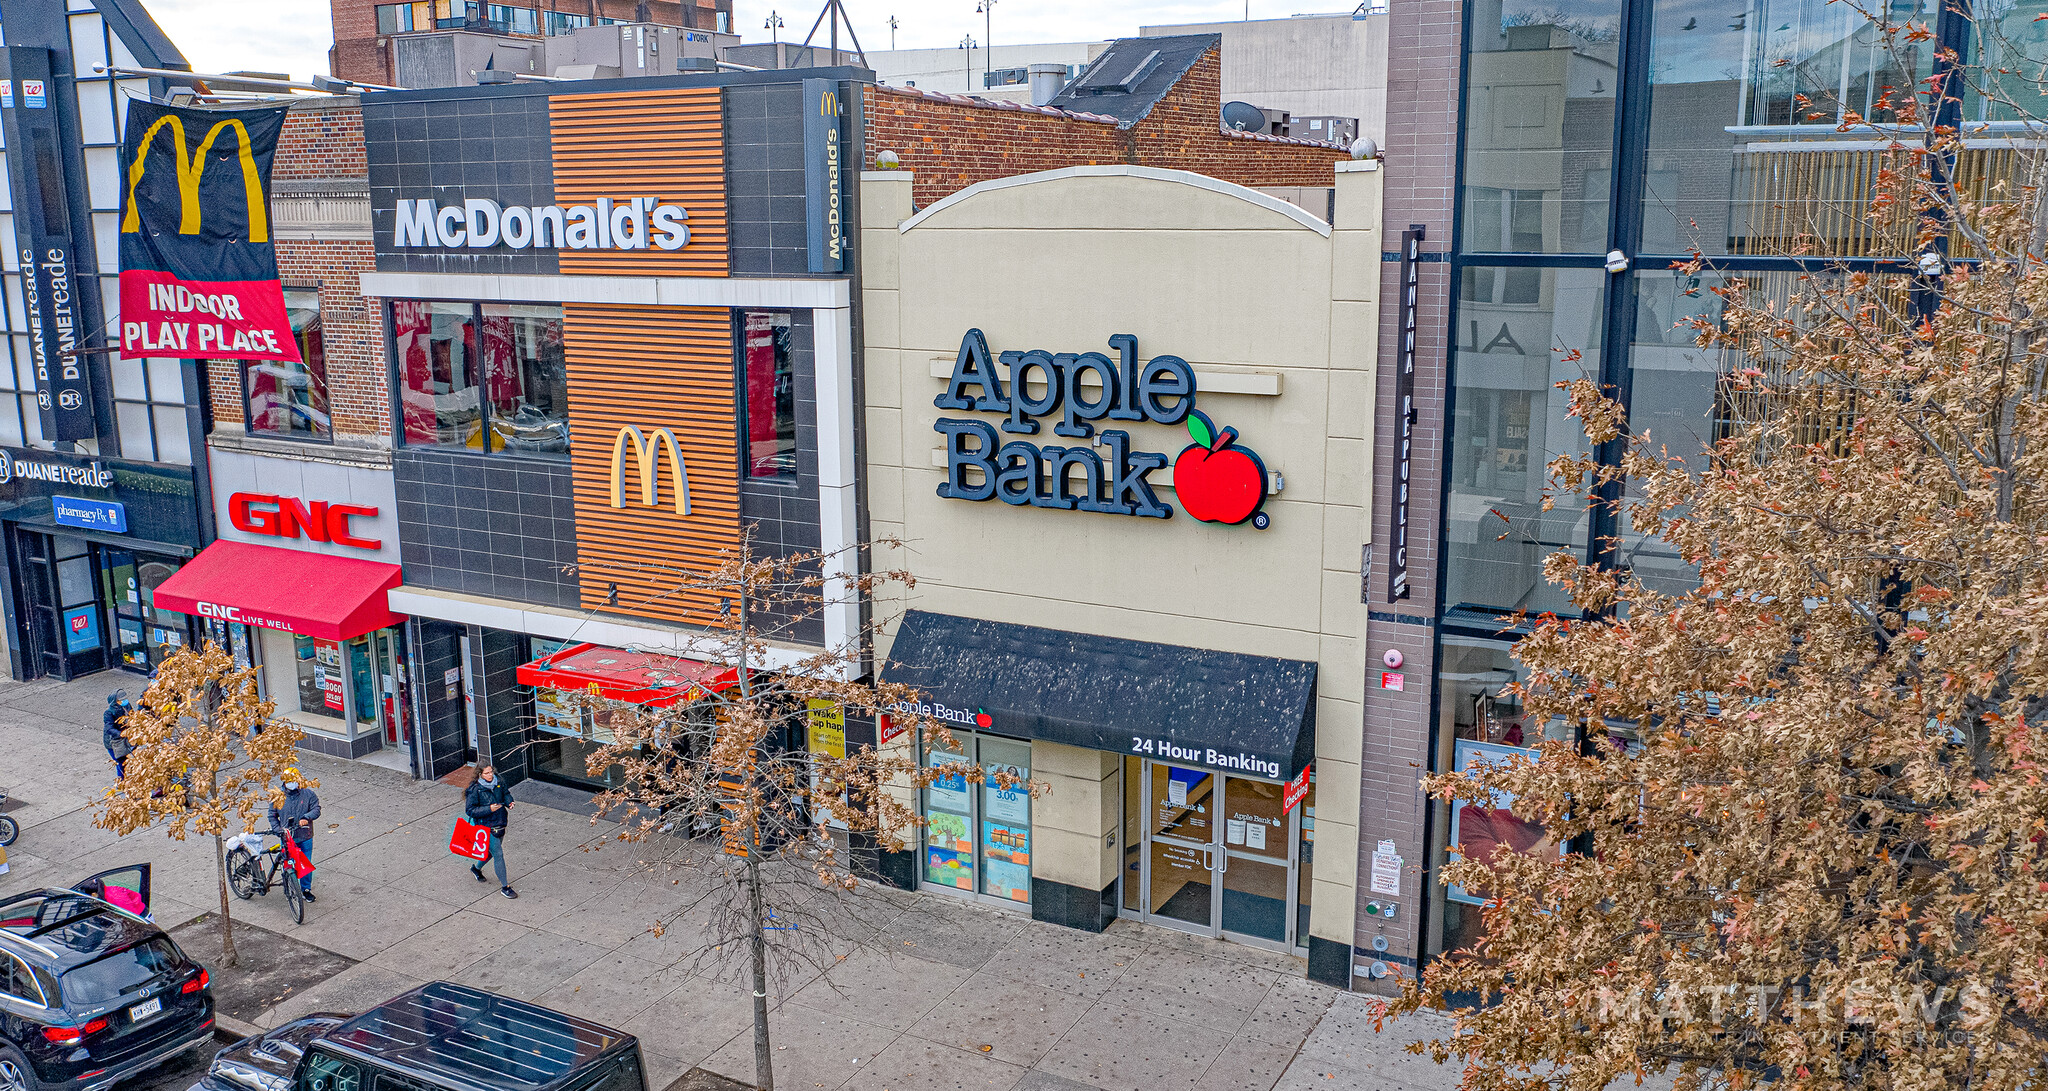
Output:
M307 1015L217 1052L190 1091L647 1091L639 1040L436 980L360 1015Z

